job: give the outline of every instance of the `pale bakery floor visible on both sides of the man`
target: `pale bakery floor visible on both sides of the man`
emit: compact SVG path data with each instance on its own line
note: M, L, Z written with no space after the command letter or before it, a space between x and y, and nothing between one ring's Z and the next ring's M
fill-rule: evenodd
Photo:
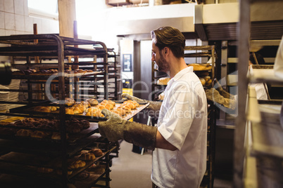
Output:
M132 152L132 144L125 141L120 144L119 157L113 159L111 166L111 188L147 188L151 187L151 151L143 155ZM215 188L230 188L229 178L216 177Z

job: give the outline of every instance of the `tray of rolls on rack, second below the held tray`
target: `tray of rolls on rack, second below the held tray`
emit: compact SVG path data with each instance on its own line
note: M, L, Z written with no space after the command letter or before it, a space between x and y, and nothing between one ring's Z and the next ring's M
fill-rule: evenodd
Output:
M87 148L77 152L67 160L68 178L72 178L83 170L92 166L96 161L105 156L99 148ZM9 152L0 156L0 169L8 168L14 173L29 173L37 176L49 176L60 178L62 175L62 162L60 157L46 156L42 154L25 154L19 152Z

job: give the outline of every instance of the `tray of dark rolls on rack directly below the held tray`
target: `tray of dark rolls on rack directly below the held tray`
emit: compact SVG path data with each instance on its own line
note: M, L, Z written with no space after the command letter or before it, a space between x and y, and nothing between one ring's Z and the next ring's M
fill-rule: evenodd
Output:
M84 119L65 121L66 140L75 144L78 140L99 133L98 124ZM58 119L25 118L0 126L0 137L9 140L61 142Z

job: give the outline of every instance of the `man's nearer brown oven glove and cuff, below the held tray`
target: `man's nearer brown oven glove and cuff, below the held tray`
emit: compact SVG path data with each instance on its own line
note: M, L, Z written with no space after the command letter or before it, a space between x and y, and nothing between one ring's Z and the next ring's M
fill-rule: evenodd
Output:
M111 142L125 140L139 147L154 150L157 128L142 123L122 119L118 114L102 109L102 114L108 119L99 121L99 133Z

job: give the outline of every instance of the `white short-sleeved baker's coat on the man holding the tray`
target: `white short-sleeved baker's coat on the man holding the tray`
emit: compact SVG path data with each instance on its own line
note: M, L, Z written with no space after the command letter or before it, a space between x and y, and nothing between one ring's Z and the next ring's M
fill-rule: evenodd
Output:
M164 94L158 131L177 150L153 151L151 180L158 187L199 187L206 172L207 100L193 67L178 72Z

